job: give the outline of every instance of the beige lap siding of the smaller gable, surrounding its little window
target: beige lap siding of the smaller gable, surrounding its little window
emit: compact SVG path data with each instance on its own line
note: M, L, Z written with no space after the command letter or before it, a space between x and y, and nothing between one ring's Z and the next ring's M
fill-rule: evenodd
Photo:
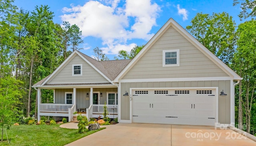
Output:
M72 64L82 64L82 76L72 76ZM76 55L49 83L108 82L92 66Z

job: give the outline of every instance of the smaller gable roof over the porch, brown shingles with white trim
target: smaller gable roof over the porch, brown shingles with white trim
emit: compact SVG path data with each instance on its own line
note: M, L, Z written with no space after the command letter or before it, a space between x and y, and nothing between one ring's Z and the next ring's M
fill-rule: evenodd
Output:
M52 78L54 78L54 76L60 70L62 70L62 68L64 68L64 66L66 64L68 64L68 62L70 62L70 60L72 60L72 58L74 58L74 56L76 56L76 55L79 55L85 62L87 62L90 66L92 66L102 76L104 76L104 78L106 78L106 80L108 80L110 83L112 83L112 80L114 80L114 78L116 78L116 76L131 61L131 60L97 61L97 60L83 54L82 52L75 50L74 52L72 52L72 54L70 54L70 56L68 56L68 58L66 58L66 60L64 60L64 62L62 62L62 64L60 64L60 66L56 70L54 70L54 72L52 74L50 74L49 76L40 80L36 84L34 84L33 87L48 86L47 82L50 81ZM52 86L54 86L54 85L55 86L57 86L57 85L76 85L76 83L74 83L74 84L51 84L51 85ZM80 85L80 84L77 84L77 85Z

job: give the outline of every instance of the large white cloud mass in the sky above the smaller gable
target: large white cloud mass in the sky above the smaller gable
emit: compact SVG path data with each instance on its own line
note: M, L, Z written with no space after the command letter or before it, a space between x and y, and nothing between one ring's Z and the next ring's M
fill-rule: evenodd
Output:
M149 40L154 35L150 30L156 26L160 11L151 0L126 0L126 4L119 5L120 0L89 1L83 6L71 4L70 8L62 9L64 14L60 17L78 25L83 37L101 38L107 46L101 48L105 54L118 54L119 50L134 47L135 44L126 44L127 40Z

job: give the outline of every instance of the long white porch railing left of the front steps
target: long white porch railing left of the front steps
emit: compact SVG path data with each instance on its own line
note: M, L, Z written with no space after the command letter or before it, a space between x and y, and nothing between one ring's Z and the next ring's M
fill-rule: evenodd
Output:
M39 104L40 112L61 112L68 113L68 109L72 108L73 104Z

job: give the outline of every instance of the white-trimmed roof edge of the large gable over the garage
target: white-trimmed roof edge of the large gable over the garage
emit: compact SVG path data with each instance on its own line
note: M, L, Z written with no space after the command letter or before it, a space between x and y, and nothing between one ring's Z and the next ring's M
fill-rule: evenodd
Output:
M125 76L125 74L140 60L140 58L153 46L153 44L172 26L177 30L184 38L186 38L190 43L192 43L198 50L200 50L204 55L206 55L212 62L219 66L226 74L232 77L233 80L242 80L236 72L229 68L224 62L222 62L217 56L215 56L210 50L208 50L204 45L202 45L194 36L187 32L182 26L180 26L176 21L170 18L160 30L148 41L148 43L140 50L140 52L132 59L132 61L118 74L114 79L114 82L118 82L119 79Z

